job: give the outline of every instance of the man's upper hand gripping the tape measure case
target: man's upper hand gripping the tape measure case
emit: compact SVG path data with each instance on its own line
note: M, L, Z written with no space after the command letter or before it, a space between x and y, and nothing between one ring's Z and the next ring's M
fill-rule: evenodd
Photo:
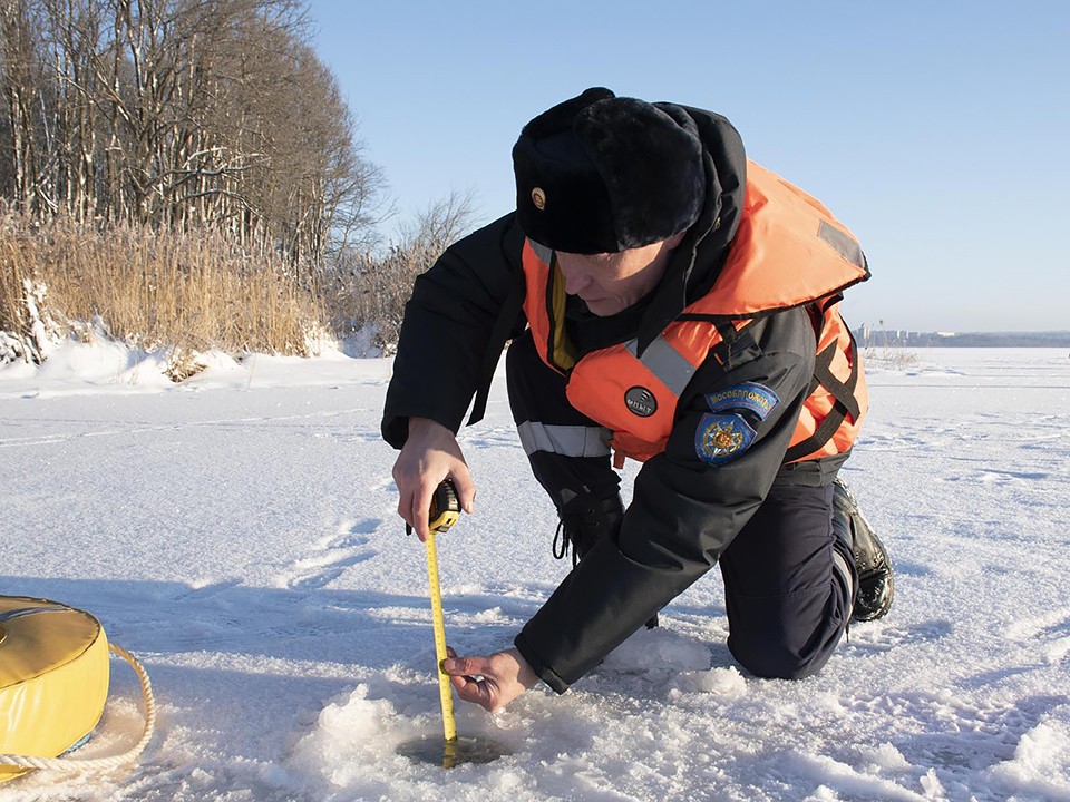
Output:
M476 486L468 472L457 438L441 423L427 418L409 419L409 438L393 463L398 486L398 515L411 526L420 540L430 535L427 527L431 497L442 479L453 479L460 508L475 509Z

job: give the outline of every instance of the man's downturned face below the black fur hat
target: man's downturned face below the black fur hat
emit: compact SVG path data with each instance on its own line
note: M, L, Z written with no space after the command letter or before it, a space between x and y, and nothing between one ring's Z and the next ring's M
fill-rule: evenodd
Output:
M669 264L669 255L683 234L671 239L609 254L557 252L557 266L565 276L565 292L578 295L592 314L616 314L653 290Z

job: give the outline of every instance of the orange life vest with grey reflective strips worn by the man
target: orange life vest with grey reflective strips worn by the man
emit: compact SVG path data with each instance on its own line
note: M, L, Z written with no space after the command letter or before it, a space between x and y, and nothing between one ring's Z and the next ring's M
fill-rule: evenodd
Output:
M785 463L845 453L855 441L868 394L838 302L839 291L868 277L865 257L825 206L759 165L747 163L739 229L713 287L642 355L631 340L577 359L553 252L527 241L523 264L524 310L539 356L568 376L572 405L613 431L617 466L623 456L645 461L664 450L680 394L711 351L729 346L761 314L800 305L814 320L817 358Z

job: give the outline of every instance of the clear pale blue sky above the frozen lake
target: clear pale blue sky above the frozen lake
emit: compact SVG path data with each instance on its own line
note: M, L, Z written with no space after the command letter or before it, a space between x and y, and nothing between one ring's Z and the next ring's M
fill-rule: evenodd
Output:
M1070 330L1070 2L311 0L402 219L513 207L509 151L590 86L712 109L873 278L852 325Z

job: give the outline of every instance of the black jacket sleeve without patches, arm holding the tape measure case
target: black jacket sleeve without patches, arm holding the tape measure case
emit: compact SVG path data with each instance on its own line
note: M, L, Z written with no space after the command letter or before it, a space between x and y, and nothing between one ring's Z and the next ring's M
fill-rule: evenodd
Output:
M409 418L460 429L503 303L524 281L523 246L509 214L453 244L417 277L383 404L382 437L395 448L408 438ZM521 312L507 338L524 325Z

